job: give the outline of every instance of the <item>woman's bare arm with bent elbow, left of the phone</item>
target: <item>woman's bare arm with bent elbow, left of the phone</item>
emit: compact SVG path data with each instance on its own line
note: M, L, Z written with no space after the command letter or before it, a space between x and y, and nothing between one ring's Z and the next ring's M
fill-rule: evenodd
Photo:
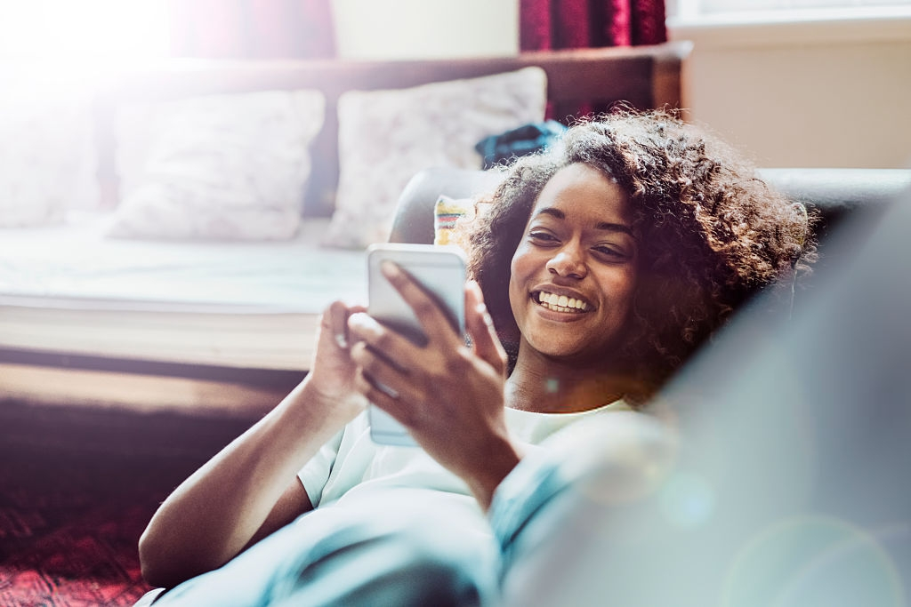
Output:
M161 504L139 540L148 583L169 587L220 567L312 509L297 472L365 405L344 338L352 311L326 310L307 378Z

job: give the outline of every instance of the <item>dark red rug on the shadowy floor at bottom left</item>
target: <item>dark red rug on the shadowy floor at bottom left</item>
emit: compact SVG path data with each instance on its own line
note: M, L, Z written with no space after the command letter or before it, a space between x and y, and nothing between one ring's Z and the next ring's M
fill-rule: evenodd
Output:
M0 605L131 605L158 504L251 420L0 401Z

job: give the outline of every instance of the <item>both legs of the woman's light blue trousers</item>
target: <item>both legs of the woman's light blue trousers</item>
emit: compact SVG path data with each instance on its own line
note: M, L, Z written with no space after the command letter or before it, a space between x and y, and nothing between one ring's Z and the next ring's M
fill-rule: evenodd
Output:
M530 451L500 484L488 512L492 534L479 533L463 508L391 489L370 503L304 514L154 604L599 604L615 583L600 571L606 549L618 535L631 545L617 525L629 504L610 498L654 476L670 441L657 421L633 412L580 423L563 437Z

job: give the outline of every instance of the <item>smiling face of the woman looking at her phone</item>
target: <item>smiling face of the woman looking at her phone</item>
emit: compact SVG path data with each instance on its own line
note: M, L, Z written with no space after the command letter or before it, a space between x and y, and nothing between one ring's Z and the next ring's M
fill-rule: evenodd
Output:
M601 357L618 348L637 278L637 240L626 193L584 164L541 190L512 258L509 301L520 351Z

